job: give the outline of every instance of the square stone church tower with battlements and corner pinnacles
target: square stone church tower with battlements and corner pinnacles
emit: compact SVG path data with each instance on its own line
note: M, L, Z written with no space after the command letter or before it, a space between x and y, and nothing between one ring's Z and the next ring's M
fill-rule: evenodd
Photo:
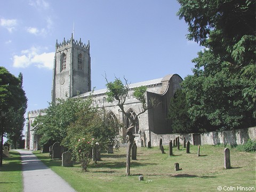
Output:
M73 34L62 43L56 41L54 55L52 102L91 91L90 42L74 40Z

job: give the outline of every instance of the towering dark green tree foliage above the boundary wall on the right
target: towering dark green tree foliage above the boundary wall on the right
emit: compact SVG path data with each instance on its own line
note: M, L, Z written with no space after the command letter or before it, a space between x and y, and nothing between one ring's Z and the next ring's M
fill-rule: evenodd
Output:
M187 35L206 49L185 78L188 114L198 130L255 125L255 1L178 0Z

